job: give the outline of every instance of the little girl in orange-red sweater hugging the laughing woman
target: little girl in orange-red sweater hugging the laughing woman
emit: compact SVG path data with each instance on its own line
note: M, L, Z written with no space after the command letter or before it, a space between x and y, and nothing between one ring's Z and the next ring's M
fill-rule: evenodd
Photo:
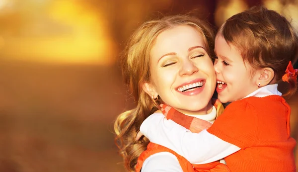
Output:
M172 120L153 114L140 131L190 163L225 158L232 172L295 172L291 108L277 90L280 81L290 84L285 95L297 89L291 61L298 57L298 38L289 21L264 7L233 15L216 36L215 53L218 97L232 103L214 124L192 133L196 118L163 105Z

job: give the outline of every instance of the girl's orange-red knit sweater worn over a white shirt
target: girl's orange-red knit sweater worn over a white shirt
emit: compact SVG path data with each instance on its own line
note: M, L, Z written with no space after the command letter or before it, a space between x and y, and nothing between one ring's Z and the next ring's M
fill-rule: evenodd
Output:
M247 97L230 103L207 131L241 148L224 159L231 172L296 172L290 113L281 96ZM178 116L167 118L176 122ZM197 119L188 118L191 125L180 125L190 129Z

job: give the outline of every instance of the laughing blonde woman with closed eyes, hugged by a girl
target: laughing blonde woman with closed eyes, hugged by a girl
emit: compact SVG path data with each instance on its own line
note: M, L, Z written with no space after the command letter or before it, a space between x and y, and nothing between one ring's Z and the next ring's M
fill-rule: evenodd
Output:
M148 21L131 36L121 65L137 107L120 114L114 125L116 144L128 171L136 170L138 157L149 144L145 137L135 141L140 126L160 103L214 121L217 111L211 102L216 86L213 48L213 30L193 16ZM167 163L176 164L176 169L167 169ZM146 158L141 167L142 172L182 172L179 163L172 153L159 152Z

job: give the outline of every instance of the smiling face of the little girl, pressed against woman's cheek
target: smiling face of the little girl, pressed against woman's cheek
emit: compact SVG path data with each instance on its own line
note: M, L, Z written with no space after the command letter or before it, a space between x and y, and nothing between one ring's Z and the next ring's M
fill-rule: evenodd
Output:
M216 90L221 102L239 100L258 89L251 66L244 64L239 51L235 46L228 45L221 34L215 39L215 53Z

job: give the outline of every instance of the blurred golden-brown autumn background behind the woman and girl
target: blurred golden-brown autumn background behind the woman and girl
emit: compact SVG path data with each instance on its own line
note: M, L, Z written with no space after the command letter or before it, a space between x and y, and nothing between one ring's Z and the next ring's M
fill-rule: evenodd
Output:
M124 172L113 122L134 107L116 63L128 37L190 10L219 27L255 4L298 29L298 0L0 0L0 172ZM288 102L297 140L298 94Z

